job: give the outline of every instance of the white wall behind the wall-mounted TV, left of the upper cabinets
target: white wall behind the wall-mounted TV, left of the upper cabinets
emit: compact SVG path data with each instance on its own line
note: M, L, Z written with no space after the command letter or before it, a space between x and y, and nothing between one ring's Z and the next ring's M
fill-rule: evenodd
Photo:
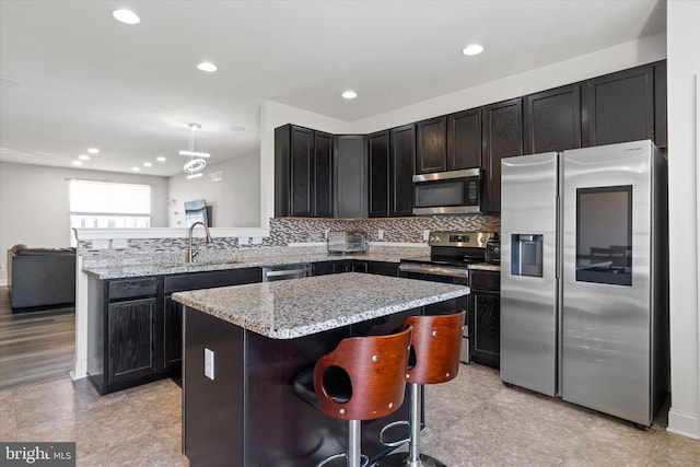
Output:
M223 180L210 182L208 174L223 172ZM206 199L212 207L213 226L260 226L260 154L242 155L207 165L201 178L170 177L167 226L184 227L184 202Z

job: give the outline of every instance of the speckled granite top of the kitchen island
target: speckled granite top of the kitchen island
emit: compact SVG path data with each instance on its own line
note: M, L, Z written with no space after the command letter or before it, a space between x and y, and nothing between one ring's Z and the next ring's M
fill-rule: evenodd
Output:
M469 293L464 285L345 272L176 292L173 300L273 339L293 339Z

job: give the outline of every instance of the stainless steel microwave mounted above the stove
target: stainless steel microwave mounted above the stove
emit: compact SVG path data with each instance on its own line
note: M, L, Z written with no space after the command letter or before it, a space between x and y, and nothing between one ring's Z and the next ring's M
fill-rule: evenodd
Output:
M413 214L480 214L482 178L481 168L413 175Z

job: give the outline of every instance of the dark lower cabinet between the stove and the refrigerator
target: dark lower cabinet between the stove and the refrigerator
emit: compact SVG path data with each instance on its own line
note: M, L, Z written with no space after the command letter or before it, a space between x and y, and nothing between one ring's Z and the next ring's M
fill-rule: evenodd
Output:
M501 353L500 275L471 270L469 287L469 354L475 363L498 369Z

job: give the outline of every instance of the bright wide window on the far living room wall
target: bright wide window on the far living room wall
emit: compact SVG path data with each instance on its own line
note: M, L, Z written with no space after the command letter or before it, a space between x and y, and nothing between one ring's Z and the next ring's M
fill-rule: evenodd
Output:
M70 180L70 226L145 229L151 226L151 186Z

